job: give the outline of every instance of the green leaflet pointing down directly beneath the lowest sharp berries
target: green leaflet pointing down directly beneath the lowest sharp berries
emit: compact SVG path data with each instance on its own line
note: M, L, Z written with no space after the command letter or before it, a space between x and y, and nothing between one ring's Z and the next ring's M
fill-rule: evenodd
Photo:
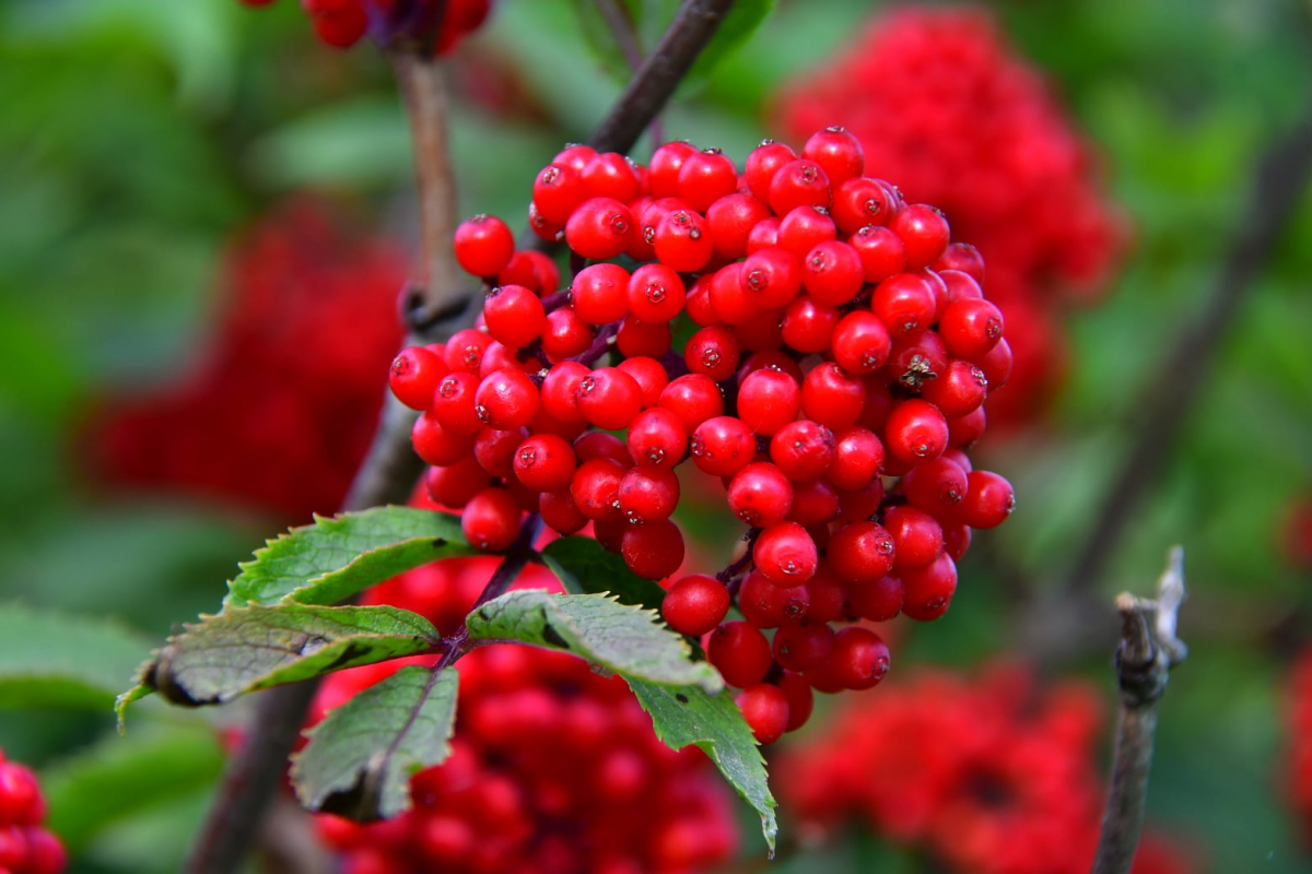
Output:
M656 736L672 750L697 744L710 756L724 778L761 815L761 831L774 857L779 824L774 795L765 773L765 760L728 692L711 696L699 687L669 688L625 677L639 704L652 717Z

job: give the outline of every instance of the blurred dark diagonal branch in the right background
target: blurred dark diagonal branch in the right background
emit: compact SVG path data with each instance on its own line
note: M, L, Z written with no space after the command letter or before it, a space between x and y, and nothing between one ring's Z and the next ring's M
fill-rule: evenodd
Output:
M1211 371L1212 359L1236 321L1271 250L1312 178L1312 115L1278 139L1261 157L1229 257L1202 312L1181 332L1156 379L1126 425L1134 446L1109 482L1088 536L1057 586L1040 592L1022 622L1022 649L1050 662L1085 650L1110 628L1094 588L1117 554L1140 504L1166 466L1174 443Z

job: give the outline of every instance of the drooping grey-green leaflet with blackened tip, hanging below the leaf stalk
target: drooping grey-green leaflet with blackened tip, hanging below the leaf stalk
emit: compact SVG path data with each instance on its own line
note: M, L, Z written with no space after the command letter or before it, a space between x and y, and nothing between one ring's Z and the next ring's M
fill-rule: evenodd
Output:
M370 822L409 807L409 778L446 759L459 675L404 667L328 713L291 760L308 810Z

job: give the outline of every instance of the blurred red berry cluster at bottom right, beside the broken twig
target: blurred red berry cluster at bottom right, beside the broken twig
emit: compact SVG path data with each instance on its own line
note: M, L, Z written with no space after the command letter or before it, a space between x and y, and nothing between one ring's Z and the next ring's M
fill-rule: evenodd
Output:
M1082 874L1098 840L1102 709L1017 666L922 674L859 698L774 760L781 803L824 837L855 819L963 874ZM1193 866L1147 835L1135 874Z

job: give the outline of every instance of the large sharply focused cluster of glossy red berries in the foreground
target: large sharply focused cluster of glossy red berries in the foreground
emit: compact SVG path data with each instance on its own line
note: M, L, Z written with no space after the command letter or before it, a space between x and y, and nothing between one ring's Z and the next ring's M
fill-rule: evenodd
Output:
M392 364L396 397L422 410L429 490L463 507L479 548L539 512L664 579L685 557L676 468L723 484L748 552L674 582L663 612L714 632L710 660L762 743L806 722L812 688L883 679L883 641L830 622L937 618L971 529L1014 504L964 452L1012 368L984 263L863 166L837 127L802 155L766 142L741 172L687 143L649 166L571 145L530 207L572 252L571 287L550 294L550 263L476 216L454 249L491 288L482 328ZM691 332L677 349L672 322ZM735 601L743 621L726 622Z

